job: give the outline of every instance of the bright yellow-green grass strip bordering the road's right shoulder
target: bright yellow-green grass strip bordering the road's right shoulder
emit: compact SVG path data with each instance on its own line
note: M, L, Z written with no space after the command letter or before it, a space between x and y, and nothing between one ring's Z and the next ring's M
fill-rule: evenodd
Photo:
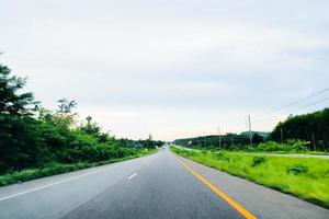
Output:
M170 149L207 166L329 208L329 160Z

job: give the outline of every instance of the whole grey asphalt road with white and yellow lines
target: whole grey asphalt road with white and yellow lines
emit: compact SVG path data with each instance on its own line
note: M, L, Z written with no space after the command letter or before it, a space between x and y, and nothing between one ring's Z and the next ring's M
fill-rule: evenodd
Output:
M168 149L0 188L0 218L329 218L329 210Z

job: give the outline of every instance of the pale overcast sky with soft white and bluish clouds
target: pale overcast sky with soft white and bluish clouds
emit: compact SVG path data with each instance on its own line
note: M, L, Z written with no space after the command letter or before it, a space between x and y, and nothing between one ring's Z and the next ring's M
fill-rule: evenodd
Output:
M117 137L271 130L324 108L328 0L0 0L0 62ZM321 102L318 104L313 104ZM311 106L308 106L311 105ZM272 113L268 113L272 112Z

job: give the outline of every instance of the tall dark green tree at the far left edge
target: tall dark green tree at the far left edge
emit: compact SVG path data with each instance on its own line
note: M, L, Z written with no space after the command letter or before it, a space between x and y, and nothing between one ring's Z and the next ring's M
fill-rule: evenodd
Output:
M37 102L32 93L19 93L26 80L10 73L0 65L0 172L36 163L39 150L38 123L31 117Z

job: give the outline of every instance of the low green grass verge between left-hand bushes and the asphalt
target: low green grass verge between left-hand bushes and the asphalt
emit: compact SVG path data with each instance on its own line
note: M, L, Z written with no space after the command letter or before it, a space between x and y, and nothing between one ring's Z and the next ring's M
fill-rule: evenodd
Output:
M88 163L88 162L79 162L72 164L49 163L44 168L39 168L39 169L25 169L22 171L14 171L8 174L0 175L0 186L5 186L19 182L25 182L25 181L31 181L35 178L45 177L45 176L56 175L60 173L72 172L72 171L82 170L87 168L95 168L99 165L105 165L105 164L125 161L134 158L140 158L144 155L152 154L155 152L157 152L157 150L151 149L148 151L139 151L134 155L118 158L118 159L111 159L111 160L100 161L94 163Z

